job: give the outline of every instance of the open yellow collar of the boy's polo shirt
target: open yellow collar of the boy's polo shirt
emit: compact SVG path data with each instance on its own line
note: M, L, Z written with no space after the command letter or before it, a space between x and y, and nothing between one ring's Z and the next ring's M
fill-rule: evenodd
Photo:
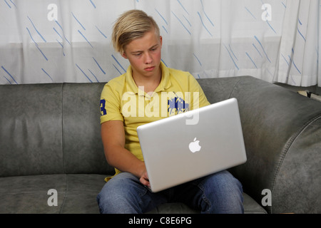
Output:
M159 83L158 87L154 92L161 92L169 88L171 85L169 70L163 62L161 62L161 72L162 72L161 83ZM138 87L135 81L133 80L133 70L131 68L131 65L128 66L125 77L126 77L127 91L138 93Z

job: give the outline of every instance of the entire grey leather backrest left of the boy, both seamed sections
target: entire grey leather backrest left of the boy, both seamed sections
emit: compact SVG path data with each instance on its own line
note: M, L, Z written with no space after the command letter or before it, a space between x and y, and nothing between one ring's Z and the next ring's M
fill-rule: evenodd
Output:
M104 84L0 86L0 177L112 175L100 135Z

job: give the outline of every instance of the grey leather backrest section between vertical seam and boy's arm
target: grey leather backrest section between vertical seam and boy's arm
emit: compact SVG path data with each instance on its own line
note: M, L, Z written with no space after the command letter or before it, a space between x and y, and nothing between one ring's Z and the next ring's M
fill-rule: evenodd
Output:
M63 85L63 162L66 173L113 175L103 152L100 98L106 83Z

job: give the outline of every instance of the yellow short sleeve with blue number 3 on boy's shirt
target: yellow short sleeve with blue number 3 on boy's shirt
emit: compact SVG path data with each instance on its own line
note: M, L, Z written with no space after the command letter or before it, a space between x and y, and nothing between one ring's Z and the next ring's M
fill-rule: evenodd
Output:
M101 123L109 120L123 121L121 114L121 98L108 83L103 87L101 92Z

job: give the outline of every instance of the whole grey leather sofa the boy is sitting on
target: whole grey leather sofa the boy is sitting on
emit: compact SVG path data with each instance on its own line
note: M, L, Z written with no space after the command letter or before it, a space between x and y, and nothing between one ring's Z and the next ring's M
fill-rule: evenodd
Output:
M250 76L198 82L210 103L238 99L248 161L230 172L245 213L320 213L321 103ZM100 135L104 84L0 86L0 213L99 212L96 195L114 172Z

